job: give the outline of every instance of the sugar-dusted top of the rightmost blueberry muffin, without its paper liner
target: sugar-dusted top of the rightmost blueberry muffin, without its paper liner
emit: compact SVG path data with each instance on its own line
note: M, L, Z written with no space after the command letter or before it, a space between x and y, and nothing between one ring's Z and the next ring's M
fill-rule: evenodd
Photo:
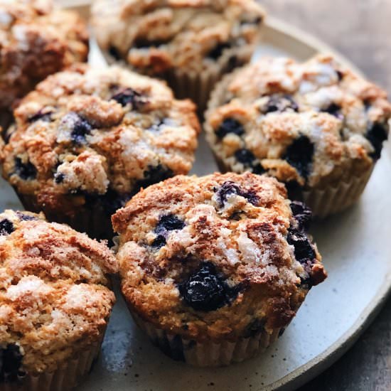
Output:
M373 167L391 105L330 55L262 58L220 82L206 117L208 141L233 171L322 188Z

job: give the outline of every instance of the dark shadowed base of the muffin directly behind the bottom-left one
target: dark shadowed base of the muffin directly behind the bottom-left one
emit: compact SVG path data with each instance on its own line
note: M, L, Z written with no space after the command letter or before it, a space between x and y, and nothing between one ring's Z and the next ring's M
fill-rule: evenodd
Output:
M53 210L45 208L45 206L37 205L29 195L20 194L16 189L15 192L26 210L35 213L43 212L50 223L67 224L74 230L85 232L88 236L97 240L111 241L114 237L111 216L108 216L102 208L96 210L79 208L75 215L63 215L55 213Z

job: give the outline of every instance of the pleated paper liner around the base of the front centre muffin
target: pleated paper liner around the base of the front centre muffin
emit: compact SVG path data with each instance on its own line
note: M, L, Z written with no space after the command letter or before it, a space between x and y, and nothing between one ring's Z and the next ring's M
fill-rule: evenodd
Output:
M249 338L238 338L235 342L195 342L156 328L134 314L132 309L130 311L137 326L149 336L154 345L174 360L183 360L195 367L221 367L241 363L266 350L283 331L282 328L275 328L272 334L261 331Z

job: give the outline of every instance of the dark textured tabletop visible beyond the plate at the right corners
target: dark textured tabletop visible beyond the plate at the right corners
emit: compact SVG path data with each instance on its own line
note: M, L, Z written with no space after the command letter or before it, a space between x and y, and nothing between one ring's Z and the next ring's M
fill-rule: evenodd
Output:
M270 14L314 33L391 92L390 0L262 0ZM391 390L391 300L358 343L300 391Z

